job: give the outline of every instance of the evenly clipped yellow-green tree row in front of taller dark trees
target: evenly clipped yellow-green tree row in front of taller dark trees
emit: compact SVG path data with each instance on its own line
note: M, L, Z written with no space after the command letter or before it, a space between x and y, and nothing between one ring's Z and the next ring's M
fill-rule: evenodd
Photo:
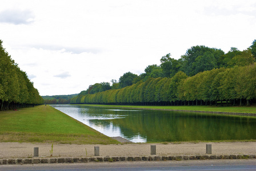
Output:
M188 77L179 71L173 78L149 78L121 89L109 89L93 95L81 95L75 103L89 104L168 104L198 101L210 104L218 100L256 99L256 64L219 68Z

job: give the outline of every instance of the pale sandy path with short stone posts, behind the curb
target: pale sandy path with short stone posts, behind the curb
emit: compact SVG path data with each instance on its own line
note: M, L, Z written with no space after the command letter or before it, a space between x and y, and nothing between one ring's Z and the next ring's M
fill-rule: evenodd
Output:
M54 144L53 157L94 156L94 146L99 146L100 156L150 156L150 145L157 145L159 156L183 156L206 154L206 144L212 145L213 155L256 154L256 142L237 143L181 143L181 144L119 144L77 145ZM51 144L0 143L0 158L33 157L34 147L39 148L39 157L50 157ZM87 156L86 156L87 152Z

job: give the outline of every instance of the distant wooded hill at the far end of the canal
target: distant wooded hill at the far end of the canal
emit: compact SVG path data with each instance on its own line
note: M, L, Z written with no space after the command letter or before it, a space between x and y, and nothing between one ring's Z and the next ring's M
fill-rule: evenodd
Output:
M55 95L55 96L42 96L45 100L45 104L69 104L70 99L77 96L78 94L73 95Z

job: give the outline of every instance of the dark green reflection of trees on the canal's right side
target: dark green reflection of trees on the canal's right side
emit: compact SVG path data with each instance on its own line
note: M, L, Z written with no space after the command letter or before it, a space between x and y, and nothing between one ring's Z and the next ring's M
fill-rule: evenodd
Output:
M255 119L202 113L150 113L113 120L123 135L140 133L147 141L211 141L256 139ZM126 132L129 130L129 132Z

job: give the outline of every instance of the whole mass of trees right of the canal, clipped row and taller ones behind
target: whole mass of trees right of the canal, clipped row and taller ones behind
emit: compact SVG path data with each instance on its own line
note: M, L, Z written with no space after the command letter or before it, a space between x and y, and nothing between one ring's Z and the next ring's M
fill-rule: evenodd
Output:
M127 72L119 82L96 83L70 103L130 105L212 105L218 101L247 105L256 99L256 40L247 50L194 46L176 60L162 56L161 65L136 75ZM96 86L97 85L97 86ZM106 86L107 85L107 86Z

